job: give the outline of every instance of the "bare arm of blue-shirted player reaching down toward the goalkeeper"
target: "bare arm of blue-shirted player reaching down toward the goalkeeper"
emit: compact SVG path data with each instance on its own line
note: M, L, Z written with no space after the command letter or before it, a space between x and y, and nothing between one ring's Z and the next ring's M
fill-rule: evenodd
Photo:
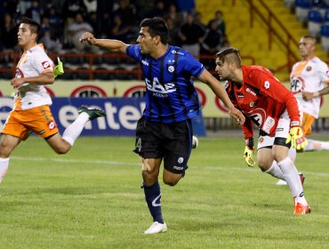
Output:
M238 124L245 123L245 116L242 114L241 111L234 107L231 100L229 100L229 95L225 91L224 87L207 69L205 69L199 76L199 80L201 80L205 84L208 84L208 86L213 90L216 96L220 98L221 101L223 101L224 105L229 108L229 116L236 119Z

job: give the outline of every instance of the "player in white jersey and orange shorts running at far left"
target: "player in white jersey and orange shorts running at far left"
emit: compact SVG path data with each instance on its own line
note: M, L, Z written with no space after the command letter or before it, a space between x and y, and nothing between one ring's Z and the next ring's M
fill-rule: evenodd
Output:
M78 108L79 116L68 126L63 137L52 117L52 99L44 85L54 82L53 62L44 52L43 44L36 44L40 25L24 18L18 30L18 42L23 49L17 64L16 76L11 80L15 92L15 104L8 116L0 141L0 182L8 170L9 157L20 141L36 133L58 154L66 154L84 129L84 124L105 116L98 108Z

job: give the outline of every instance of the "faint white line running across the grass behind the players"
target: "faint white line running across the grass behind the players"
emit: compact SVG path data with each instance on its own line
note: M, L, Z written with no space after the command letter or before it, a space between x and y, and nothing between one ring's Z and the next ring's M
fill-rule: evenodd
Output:
M105 161L105 160L78 160L78 159L68 159L68 158L44 158L44 157L11 157L14 160L22 160L22 161L52 161L57 163L65 163L65 164L90 164L90 165L115 165L115 166L122 166L122 165L131 165L131 166L140 166L139 163L124 163L124 162L116 162L116 161ZM198 170L226 170L226 171L248 171L253 173L260 173L258 168L245 168L245 167L231 167L231 166L215 166L215 165L191 165L191 168L198 169ZM317 175L321 177L329 177L329 173L315 173L315 172L303 172L309 175Z

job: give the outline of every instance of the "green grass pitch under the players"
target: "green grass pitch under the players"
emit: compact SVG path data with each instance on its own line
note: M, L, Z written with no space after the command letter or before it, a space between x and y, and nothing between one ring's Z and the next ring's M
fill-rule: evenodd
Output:
M168 231L151 217L133 138L79 138L65 156L39 138L12 153L0 185L0 248L328 248L328 152L298 155L310 215L245 165L244 140L199 139L186 177L162 188ZM161 170L162 172L162 170Z

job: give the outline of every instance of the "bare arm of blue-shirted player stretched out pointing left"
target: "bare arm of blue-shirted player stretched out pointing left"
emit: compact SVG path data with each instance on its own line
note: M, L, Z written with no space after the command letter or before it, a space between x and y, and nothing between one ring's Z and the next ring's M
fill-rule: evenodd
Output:
M82 36L80 36L79 41L80 43L87 42L90 45L106 48L109 51L118 51L124 53L125 53L125 48L128 45L128 44L124 44L124 42L119 40L97 39L90 32L85 32Z

